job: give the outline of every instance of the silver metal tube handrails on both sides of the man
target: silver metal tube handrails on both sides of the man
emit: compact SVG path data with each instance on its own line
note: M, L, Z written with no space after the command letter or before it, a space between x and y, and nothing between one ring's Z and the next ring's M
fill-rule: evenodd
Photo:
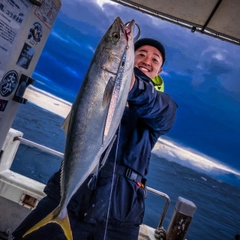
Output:
M32 147L36 147L42 151L45 151L45 152L48 152L48 153L51 153L53 155L56 155L56 156L59 156L59 157L63 157L64 154L61 153L61 152L58 152L54 149L51 149L51 148L48 148L44 145L41 145L41 144L38 144L38 143L35 143L33 141L30 141L30 140L27 140L26 138L23 138L23 137L15 137L14 138L14 141L20 141L21 143L25 144L25 145L29 145L29 146L32 146ZM162 224L163 224L163 220L166 216L166 213L167 213L167 210L168 210L168 206L170 204L170 198L169 196L166 194L166 193L163 193L163 192L160 192L154 188L151 188L151 187L146 187L147 191L148 192L151 192L153 194L156 194L160 197L163 197L166 199L166 203L165 203L165 206L164 206L164 209L163 209L163 213L161 215L161 218L160 218L160 221L159 221L159 224L158 224L158 227L157 228L161 228L162 227Z

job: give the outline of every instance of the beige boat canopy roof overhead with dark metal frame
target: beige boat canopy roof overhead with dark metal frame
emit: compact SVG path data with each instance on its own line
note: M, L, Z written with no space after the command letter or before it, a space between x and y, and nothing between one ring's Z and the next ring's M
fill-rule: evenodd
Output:
M112 0L184 27L240 44L240 0ZM220 3L214 12L217 4ZM214 13L214 15L212 15ZM210 20L210 21L209 21Z

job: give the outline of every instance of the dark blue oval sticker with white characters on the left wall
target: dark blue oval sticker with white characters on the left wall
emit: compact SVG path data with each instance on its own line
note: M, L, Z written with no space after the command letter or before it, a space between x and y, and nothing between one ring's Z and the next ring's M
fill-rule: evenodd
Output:
M7 72L2 81L0 82L0 94L3 97L10 96L18 84L18 74L16 71L11 70Z

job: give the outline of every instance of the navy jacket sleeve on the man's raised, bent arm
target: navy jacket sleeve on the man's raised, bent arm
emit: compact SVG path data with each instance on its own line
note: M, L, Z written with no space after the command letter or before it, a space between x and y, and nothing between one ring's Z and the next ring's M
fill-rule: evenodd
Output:
M178 106L168 94L157 91L150 79L135 76L128 96L129 108L159 137L172 128Z

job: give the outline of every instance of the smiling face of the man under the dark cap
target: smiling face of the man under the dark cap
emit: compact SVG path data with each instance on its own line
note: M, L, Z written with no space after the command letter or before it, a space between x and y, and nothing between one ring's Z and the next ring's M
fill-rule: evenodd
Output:
M151 79L162 71L162 63L162 54L155 47L144 45L135 51L134 66Z

